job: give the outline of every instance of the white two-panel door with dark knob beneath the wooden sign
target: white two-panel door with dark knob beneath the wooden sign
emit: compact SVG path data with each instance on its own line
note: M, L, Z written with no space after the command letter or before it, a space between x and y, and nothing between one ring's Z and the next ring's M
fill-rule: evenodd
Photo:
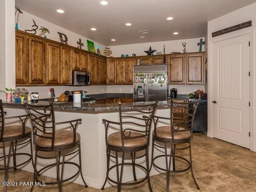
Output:
M246 148L250 148L249 41L250 34L245 34L213 46L213 136Z

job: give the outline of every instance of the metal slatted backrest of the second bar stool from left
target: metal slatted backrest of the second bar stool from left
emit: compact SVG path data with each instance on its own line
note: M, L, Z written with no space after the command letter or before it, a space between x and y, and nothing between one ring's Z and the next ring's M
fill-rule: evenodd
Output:
M25 103L30 115L34 144L36 136L41 138L50 138L52 140L51 148L54 148L55 138L55 116L53 103L49 105L37 105Z

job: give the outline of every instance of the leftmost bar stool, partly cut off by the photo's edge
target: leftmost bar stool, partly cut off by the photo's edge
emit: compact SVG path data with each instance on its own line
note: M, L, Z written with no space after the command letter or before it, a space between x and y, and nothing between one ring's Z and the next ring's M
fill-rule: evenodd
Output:
M0 100L0 142L2 142L2 147L3 148L3 156L0 157L4 158L4 168L1 168L0 170L4 170L4 181L7 182L8 181L8 170L11 168L14 168L14 170L17 169L17 167L22 166L26 163L28 163L31 159L32 159L32 164L33 164L33 158L32 158L32 134L31 134L31 128L25 126L26 125L26 121L29 117L28 114L26 115L20 115L20 116L13 116L13 117L4 117L4 114L7 114L6 112L4 112L4 108L3 108L3 104L2 104L2 100ZM4 120L6 119L15 119L15 118L19 118L20 122L22 123L22 125L12 125L12 126L5 126L4 125ZM19 140L22 140L21 143L18 143ZM6 155L5 152L5 145L6 142L9 142L9 152L8 155ZM28 153L17 153L17 146L26 146L27 144L30 144L30 150L31 150L31 154ZM11 154L12 151L12 154ZM28 160L26 160L25 162L22 162L20 164L16 164L16 156L28 156ZM12 156L13 158L13 166L10 167L10 157ZM7 163L6 163L6 158ZM4 186L4 192L7 191L7 186Z

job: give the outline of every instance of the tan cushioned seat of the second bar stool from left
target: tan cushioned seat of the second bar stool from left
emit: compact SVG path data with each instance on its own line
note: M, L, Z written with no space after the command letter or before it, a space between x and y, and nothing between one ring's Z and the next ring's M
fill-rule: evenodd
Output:
M43 134L43 136L51 136L49 134ZM76 142L80 140L80 134L76 133ZM54 147L66 146L73 143L73 131L59 130L55 131ZM42 148L51 148L52 139L51 138L36 138L36 145Z

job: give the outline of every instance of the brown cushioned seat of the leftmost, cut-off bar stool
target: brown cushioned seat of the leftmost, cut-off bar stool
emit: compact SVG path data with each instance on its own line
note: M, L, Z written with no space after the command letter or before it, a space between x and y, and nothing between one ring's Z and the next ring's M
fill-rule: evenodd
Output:
M30 133L31 128L25 126L25 134ZM22 136L22 126L21 125L13 125L13 126L5 126L4 127L4 135L3 138L10 137L18 137Z

